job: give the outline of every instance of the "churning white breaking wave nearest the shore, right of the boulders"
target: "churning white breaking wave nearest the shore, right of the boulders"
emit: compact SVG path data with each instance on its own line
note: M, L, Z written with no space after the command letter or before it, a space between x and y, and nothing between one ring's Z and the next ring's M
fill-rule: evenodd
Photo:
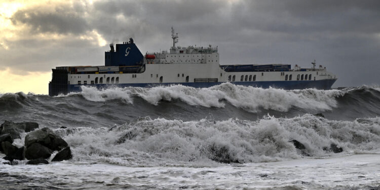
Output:
M343 154L377 151L379 124L378 118L329 121L309 114L292 119L268 116L256 122L184 122L147 117L110 130L73 132L65 139L78 161L209 166L218 162L273 162L305 155L326 157L334 154L326 149L332 143L342 147ZM292 140L305 145L302 153Z

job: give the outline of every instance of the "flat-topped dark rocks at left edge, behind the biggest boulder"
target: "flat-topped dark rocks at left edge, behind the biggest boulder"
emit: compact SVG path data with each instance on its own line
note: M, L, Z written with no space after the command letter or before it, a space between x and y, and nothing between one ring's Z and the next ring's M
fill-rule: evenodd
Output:
M0 125L0 134L10 134L13 139L21 138L21 133L30 132L39 128L39 124L35 122L13 123L12 121L4 121Z

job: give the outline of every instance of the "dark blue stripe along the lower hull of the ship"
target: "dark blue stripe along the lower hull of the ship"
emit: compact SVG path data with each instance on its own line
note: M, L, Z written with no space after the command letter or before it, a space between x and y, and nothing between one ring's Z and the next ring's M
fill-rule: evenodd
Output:
M293 89L307 89L315 88L320 90L329 90L334 84L336 79L319 80L319 81L247 81L247 82L231 82L235 85L252 86L261 88L279 88L285 90ZM195 88L208 88L215 85L220 85L224 82L216 83L133 83L133 84L93 84L93 85L68 85L68 92L80 92L81 86L96 87L97 89L104 89L107 87L117 86L124 87L155 87L155 86L170 86L170 85L183 85Z

